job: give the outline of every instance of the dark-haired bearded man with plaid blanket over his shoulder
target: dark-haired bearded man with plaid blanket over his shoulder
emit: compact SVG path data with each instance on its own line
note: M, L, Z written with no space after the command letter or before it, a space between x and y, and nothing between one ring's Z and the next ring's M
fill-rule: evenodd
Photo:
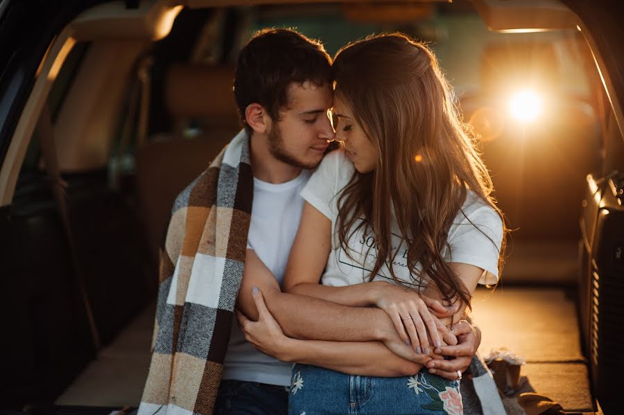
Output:
M209 177L209 169L178 197L163 253L166 261L161 265L155 353L139 414L151 414L165 405L163 412L171 413L211 414L213 405L215 414L287 413L291 363L269 357L246 342L231 319L234 304L225 304L227 295L238 292L236 308L256 320L259 312L254 297L258 301L260 294L257 290L253 294L253 288L262 292L268 311L289 337L335 342L331 353L313 355L307 363L345 373L405 376L413 375L428 360L399 338L381 309L341 306L282 293L279 288L304 204L300 190L333 140L327 116L332 103L331 59L323 46L293 30L263 30L239 55L234 93L245 131L229 148L248 143L252 195L241 191L245 164L233 164L234 150L226 148L214 162L221 163L218 180L217 173ZM246 149L236 154L244 156ZM231 186L228 177L234 177ZM209 192L213 185L216 195L207 202L213 207L198 220L200 208L189 201ZM223 205L230 207L219 211L220 200L228 197L231 203ZM182 209L181 204L189 206ZM247 220L237 213L237 209L245 211L245 206L251 213L248 232L246 227L236 227ZM211 227L215 211L216 225ZM227 226L220 224L223 217L231 218ZM181 223L184 225L176 225ZM201 236L193 239L189 233ZM246 252L236 250L241 242L246 244ZM216 249L211 244L217 245ZM202 254L219 251L218 245L227 251L223 254L225 265L220 267L213 265L218 263L214 258L218 255ZM185 262L187 257L190 262ZM209 265L202 265L206 263ZM223 274L223 278L210 273ZM241 274L242 282L237 279ZM181 283L182 275L187 275L188 281ZM202 295L209 299L200 298L198 292L205 292ZM207 311L201 308L205 305L210 306ZM216 312L211 314L212 310ZM232 330L229 341L226 325ZM209 333L198 331L202 327ZM479 342L478 332L467 324L458 325L454 334L460 344L437 352L458 358L435 360L437 369L433 369L452 380L458 378L458 370L468 367ZM220 343L215 346L216 337ZM359 342L358 353L352 353L354 342Z

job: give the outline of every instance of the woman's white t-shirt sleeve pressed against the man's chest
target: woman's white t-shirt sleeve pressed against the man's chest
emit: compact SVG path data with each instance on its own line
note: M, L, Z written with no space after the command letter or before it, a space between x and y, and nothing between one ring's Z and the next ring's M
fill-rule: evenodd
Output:
M327 154L301 191L301 197L329 220L336 218L336 209L331 209L331 204L336 196L336 182L343 157L342 150Z

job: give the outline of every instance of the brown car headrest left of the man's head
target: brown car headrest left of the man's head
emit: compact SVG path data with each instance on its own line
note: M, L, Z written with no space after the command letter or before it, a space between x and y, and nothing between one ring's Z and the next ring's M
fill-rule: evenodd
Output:
M234 101L234 67L173 64L166 74L165 100L177 118L201 118L210 125L240 125Z

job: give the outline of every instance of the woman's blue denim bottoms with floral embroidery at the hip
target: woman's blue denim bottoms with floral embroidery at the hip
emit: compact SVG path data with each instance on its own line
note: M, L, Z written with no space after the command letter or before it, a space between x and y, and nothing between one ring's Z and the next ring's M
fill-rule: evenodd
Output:
M289 415L462 414L457 380L421 370L414 376L374 378L295 364Z

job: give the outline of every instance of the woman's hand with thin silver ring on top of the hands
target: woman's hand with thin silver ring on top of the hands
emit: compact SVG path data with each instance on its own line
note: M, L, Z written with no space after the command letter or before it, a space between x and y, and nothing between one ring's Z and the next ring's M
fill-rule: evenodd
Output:
M453 315L457 306L444 307L440 301L385 281L374 287L373 302L388 313L401 340L411 343L417 353L428 355L429 347L442 346L442 340L457 344L455 335L437 318Z

